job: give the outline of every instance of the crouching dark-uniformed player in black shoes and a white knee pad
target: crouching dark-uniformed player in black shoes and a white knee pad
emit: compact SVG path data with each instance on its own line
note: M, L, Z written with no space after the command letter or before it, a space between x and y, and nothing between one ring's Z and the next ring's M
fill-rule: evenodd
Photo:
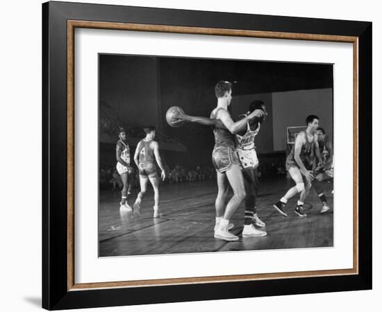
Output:
M295 187L292 187L285 195L276 202L273 207L276 208L283 216L287 216L284 206L293 196L300 193L300 198L297 201L296 209L294 212L301 217L305 217L306 214L303 211L304 200L312 187L312 181L314 174L312 170L313 157L316 155L319 159L319 165L322 164L322 157L319 153L319 145L317 140L317 128L319 124L319 118L315 115L309 115L306 117L306 130L299 132L294 141L294 148L290 150L290 153L285 162L285 168L289 172L290 176L296 183ZM304 184L304 180L305 184Z

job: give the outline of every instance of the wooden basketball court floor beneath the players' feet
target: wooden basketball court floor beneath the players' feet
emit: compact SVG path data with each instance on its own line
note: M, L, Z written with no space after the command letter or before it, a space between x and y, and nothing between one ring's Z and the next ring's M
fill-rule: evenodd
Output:
M272 207L294 184L279 177L261 179L257 198L258 216L266 223L267 236L242 239L244 203L231 222L235 242L213 236L215 225L215 181L184 182L160 186L160 212L153 218L153 191L149 186L142 201L141 216L119 212L119 191L99 193L99 257L238 250L272 250L287 248L322 248L333 246L333 182L320 182L331 209L319 214L322 204L314 189L306 198L306 218L294 214L297 196L285 206L288 217ZM138 189L128 198L133 205ZM342 207L344 209L345 207ZM351 209L351 207L349 207Z

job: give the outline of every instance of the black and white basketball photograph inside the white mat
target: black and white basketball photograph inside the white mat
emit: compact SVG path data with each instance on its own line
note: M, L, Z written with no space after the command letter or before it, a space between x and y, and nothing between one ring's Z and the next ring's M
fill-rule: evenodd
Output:
M333 64L98 66L99 257L333 248Z

